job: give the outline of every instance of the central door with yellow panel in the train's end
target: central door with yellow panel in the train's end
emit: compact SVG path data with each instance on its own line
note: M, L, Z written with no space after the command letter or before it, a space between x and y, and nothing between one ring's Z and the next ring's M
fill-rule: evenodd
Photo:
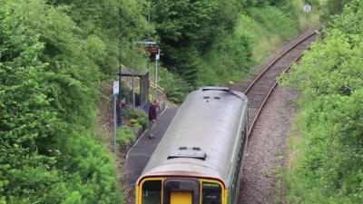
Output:
M200 184L195 179L171 178L164 181L163 204L199 204Z

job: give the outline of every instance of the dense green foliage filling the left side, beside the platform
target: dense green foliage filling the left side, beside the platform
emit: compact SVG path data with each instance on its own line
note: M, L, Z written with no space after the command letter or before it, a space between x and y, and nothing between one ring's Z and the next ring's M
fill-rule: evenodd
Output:
M115 164L92 131L97 37L67 7L0 6L0 202L116 203Z

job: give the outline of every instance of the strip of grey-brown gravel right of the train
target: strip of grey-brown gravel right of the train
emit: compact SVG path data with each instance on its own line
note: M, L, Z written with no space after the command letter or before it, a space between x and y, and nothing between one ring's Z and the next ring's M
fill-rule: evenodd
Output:
M276 173L286 163L296 95L290 89L276 88L256 121L243 161L240 204L275 203Z

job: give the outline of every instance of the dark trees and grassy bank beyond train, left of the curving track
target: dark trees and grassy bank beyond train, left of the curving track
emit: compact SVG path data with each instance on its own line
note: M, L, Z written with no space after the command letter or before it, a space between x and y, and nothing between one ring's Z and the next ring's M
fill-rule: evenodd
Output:
M193 87L240 80L302 28L299 0L152 2L163 65Z

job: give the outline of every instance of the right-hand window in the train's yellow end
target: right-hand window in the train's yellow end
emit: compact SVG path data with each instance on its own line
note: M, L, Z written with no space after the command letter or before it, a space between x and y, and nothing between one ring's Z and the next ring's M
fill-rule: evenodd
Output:
M202 204L221 204L221 186L217 183L202 182Z

